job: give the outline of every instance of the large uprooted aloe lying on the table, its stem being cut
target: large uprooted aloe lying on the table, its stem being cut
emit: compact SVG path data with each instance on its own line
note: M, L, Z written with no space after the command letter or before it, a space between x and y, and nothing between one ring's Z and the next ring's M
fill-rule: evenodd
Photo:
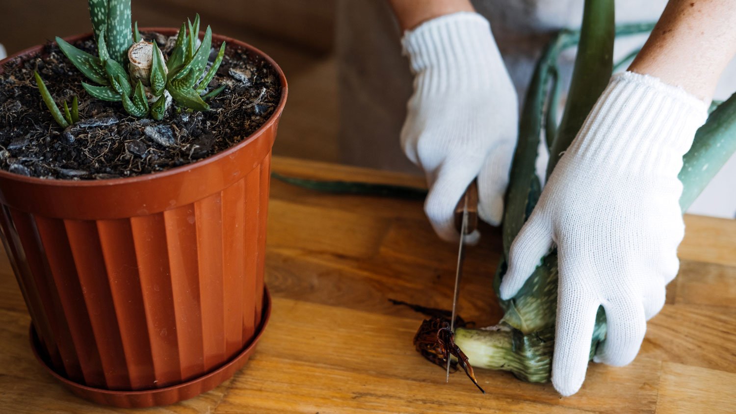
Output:
M651 26L623 26L614 31L612 3L612 0L587 0L582 32L559 33L537 64L521 118L519 143L512 165L507 194L509 204L503 221L504 254L493 282L497 296L500 281L506 272L506 259L511 243L539 198L539 180L534 172L534 160L542 129L542 107L548 79L555 71L556 55L565 46L570 46L576 43L577 38L581 38L562 126L546 128L548 134L554 135L548 137L553 154L559 154L567 148L598 95L605 88L611 75L612 63L604 55L612 51L613 33L626 34L640 29L651 29ZM594 39L595 41L591 41ZM548 123L552 120L553 118L547 117ZM698 130L692 148L684 156L679 174L684 186L680 199L683 211L734 152L736 94L710 114L707 123ZM548 172L552 171L559 159L553 154ZM518 378L530 382L548 381L554 349L557 278L557 254L556 251L551 251L542 259L516 296L500 301L505 314L499 324L484 329L456 329L455 343L464 351L470 363L481 368L512 371ZM601 307L598 309L591 338L591 358L598 343L605 338L606 317Z

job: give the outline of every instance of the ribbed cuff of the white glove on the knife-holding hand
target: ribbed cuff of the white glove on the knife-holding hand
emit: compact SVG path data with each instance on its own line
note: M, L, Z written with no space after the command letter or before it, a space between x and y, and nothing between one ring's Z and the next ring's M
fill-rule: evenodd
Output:
M412 73L427 75L430 85L425 86L436 90L444 90L447 85L492 86L492 77L473 74L497 69L506 72L491 26L478 13L452 13L426 21L404 32L401 43Z

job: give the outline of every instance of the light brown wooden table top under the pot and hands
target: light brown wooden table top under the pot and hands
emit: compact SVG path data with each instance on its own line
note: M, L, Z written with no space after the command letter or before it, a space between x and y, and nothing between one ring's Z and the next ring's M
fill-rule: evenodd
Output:
M275 158L289 176L422 185L400 174ZM436 238L421 201L332 196L272 182L266 283L269 326L250 362L218 388L168 407L101 407L68 393L36 362L30 318L0 260L2 413L735 413L736 221L686 216L680 274L623 368L591 364L583 388L477 370L481 395L411 344L422 316L400 299L448 308L456 247ZM500 232L481 227L467 250L459 313L479 326L501 316L491 280Z

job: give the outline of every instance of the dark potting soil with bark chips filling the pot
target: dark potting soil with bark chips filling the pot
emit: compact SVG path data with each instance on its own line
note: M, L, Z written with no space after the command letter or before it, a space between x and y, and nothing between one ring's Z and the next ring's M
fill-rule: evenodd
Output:
M168 56L175 38L144 33ZM93 40L75 44L96 55ZM210 63L220 43L213 40ZM0 168L49 179L108 179L149 174L193 163L233 146L263 125L277 107L280 79L269 63L228 45L210 88L206 112L169 105L162 121L128 115L120 102L100 101L82 88L90 82L49 43L35 57L15 58L0 74ZM60 110L79 99L79 123L61 128L43 104L37 70Z

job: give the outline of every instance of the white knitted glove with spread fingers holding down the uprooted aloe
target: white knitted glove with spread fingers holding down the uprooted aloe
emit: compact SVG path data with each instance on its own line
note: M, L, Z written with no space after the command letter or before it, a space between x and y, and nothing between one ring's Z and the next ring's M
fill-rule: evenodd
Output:
M563 396L585 378L595 313L608 333L595 362L634 360L646 321L665 304L684 235L677 174L707 106L659 79L612 77L509 252L509 299L557 245L559 285L552 382Z

